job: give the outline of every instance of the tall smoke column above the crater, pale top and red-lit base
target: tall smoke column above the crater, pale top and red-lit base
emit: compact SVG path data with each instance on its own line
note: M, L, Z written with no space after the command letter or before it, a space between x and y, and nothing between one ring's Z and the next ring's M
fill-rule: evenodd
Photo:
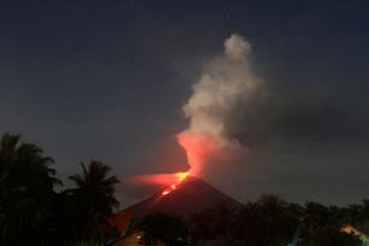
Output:
M213 59L192 86L183 106L189 125L177 135L191 175L199 175L214 158L247 150L234 136L247 127L243 114L263 91L263 82L251 71L250 51L246 39L231 35L224 42L224 54Z

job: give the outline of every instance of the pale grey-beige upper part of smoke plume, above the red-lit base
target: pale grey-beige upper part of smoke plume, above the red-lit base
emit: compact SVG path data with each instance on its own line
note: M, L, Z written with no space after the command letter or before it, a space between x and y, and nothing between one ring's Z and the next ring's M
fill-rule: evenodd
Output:
M233 34L224 42L224 55L205 68L184 105L189 127L181 134L200 133L213 138L221 148L240 146L232 137L247 127L244 115L263 92L263 82L251 71L250 43Z

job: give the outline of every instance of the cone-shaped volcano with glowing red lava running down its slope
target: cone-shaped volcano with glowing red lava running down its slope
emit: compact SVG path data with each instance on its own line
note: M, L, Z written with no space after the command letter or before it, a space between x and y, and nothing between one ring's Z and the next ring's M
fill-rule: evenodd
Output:
M170 192L168 191L168 188ZM173 188L168 186L153 196L126 209L133 217L142 217L153 212L169 215L191 215L214 205L224 203L233 209L241 209L242 204L229 197L211 184L193 176L186 177Z

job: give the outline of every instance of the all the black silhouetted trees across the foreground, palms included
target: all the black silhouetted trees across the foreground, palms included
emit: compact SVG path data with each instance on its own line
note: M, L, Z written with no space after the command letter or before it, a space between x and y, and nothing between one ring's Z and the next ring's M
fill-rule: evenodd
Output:
M109 245L119 236L110 218L118 202L117 178L98 161L81 163L64 188L52 167L54 160L19 135L4 134L0 142L0 245ZM58 191L56 191L58 190ZM369 200L344 208L307 202L288 203L262 196L236 211L220 203L191 215L152 214L132 224L143 244L356 246L358 237L341 232L346 224L369 231Z

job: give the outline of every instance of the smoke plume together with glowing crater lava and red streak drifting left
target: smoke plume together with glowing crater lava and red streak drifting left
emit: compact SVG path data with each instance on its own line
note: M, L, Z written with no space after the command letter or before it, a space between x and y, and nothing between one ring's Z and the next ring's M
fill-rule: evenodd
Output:
M207 164L228 162L247 153L247 146L237 137L258 132L260 106L267 95L262 80L252 72L250 52L246 39L231 35L224 42L224 53L204 67L199 81L192 86L192 94L183 106L189 124L177 135L189 171L129 176L122 182L146 188L166 186L161 195L168 196L188 175L200 176Z

